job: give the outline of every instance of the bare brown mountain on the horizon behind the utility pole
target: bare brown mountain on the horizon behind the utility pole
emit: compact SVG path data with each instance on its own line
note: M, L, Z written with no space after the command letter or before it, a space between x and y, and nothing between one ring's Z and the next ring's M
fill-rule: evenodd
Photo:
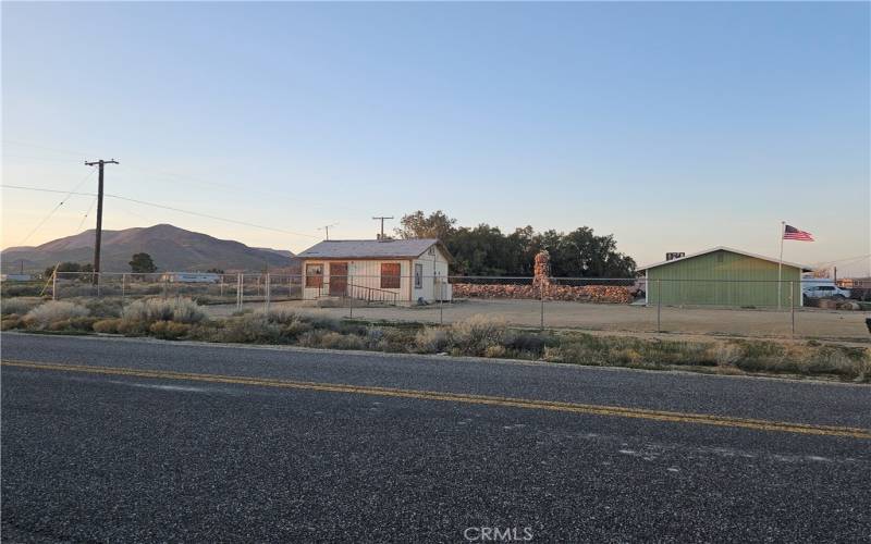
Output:
M94 260L94 230L58 238L36 247L10 247L2 251L3 270L19 270L22 259L25 270L42 271L58 262L87 263ZM224 271L260 272L298 268L290 251L248 247L245 244L218 239L160 224L148 227L103 231L100 249L105 272L130 272L133 254L146 252L160 271Z

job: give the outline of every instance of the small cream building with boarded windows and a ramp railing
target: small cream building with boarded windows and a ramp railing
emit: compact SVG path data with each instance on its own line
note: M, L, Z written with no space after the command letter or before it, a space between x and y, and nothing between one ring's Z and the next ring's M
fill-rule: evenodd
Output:
M388 304L451 299L447 248L436 238L323 240L297 256L303 299Z

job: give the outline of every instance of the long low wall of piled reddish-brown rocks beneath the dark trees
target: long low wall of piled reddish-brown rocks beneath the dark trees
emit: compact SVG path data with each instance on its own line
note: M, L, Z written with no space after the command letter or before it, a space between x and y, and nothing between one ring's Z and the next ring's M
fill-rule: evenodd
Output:
M455 283L456 298L532 298L540 297L538 286ZM567 300L578 302L629 304L633 296L629 288L621 285L557 285L544 287L545 300Z

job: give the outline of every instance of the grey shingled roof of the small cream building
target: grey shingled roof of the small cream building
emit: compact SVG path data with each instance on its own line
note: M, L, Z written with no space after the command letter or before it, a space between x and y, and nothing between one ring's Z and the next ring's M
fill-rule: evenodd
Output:
M408 239L330 239L315 244L297 255L300 259L414 259L433 245L451 260L447 248L438 238Z

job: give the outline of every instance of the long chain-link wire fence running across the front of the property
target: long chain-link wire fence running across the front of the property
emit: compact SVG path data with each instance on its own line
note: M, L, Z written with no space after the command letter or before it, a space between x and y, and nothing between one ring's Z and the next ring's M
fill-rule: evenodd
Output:
M3 297L16 296L15 287L17 296L122 306L186 297L214 317L280 306L370 321L487 314L522 327L821 338L867 339L871 311L871 282L842 289L831 280L59 272L27 285L4 282Z

